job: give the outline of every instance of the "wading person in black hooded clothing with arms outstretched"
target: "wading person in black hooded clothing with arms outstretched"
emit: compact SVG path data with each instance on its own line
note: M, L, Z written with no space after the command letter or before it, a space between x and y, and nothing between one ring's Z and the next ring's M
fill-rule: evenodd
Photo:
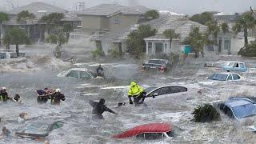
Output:
M105 111L108 111L108 112L110 112L112 114L117 114L113 110L110 110L110 108L106 107L104 105L104 103L105 103L105 99L103 99L103 98L101 98L99 100L99 102L94 102L94 101L91 101L91 100L89 101L90 106L93 107L93 111L92 111L93 118L104 119L102 114Z

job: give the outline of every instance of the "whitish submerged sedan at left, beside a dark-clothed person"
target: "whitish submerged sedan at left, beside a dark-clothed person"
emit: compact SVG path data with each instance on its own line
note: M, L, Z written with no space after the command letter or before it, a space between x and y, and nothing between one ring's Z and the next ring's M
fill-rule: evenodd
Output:
M93 71L86 68L72 68L67 71L62 71L57 74L57 77L68 77L68 78L96 78L96 74Z

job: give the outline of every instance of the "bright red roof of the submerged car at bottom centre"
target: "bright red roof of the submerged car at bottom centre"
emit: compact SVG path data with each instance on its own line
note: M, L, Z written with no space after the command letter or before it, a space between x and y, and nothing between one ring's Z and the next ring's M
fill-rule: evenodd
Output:
M150 123L146 125L136 126L122 134L114 135L113 138L129 138L143 133L166 133L173 130L169 123Z

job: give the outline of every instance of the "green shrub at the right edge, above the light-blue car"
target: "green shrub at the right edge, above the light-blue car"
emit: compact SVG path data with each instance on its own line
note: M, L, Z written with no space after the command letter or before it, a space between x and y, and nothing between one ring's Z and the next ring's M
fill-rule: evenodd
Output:
M239 50L238 54L244 57L256 57L256 40Z

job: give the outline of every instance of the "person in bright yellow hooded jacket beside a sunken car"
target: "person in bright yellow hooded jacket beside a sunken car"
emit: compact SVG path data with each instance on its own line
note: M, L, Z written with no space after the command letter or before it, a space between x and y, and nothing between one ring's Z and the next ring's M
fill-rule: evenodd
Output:
M134 98L135 106L138 104L142 104L144 102L146 96L146 92L139 86L136 82L130 82L130 89L128 90L128 98L130 100L130 104L133 104L132 97ZM141 102L139 102L142 99Z

